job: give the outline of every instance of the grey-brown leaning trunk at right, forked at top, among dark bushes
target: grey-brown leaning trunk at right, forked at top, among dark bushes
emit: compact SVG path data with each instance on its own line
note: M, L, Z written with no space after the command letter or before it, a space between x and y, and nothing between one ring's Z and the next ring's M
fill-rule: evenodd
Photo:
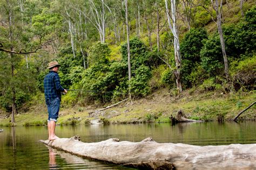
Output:
M226 54L226 49L225 49L225 40L224 40L224 36L223 36L223 30L221 27L221 15L222 15L222 0L220 1L220 5L219 5L219 1L218 0L214 0L215 3L213 2L213 0L211 0L212 5L213 5L213 9L216 12L216 16L217 16L217 27L218 27L218 32L219 32L219 36L220 36L220 44L221 44L221 50L223 53L223 59L224 59L224 66L225 66L225 74L226 74L226 79L229 80L229 73L228 73L228 61L227 61L227 54Z

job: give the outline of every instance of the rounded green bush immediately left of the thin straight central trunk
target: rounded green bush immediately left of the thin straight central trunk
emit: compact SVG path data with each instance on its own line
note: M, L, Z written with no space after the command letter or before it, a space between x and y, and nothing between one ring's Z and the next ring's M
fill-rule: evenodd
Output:
M127 89L127 66L124 63L98 63L86 69L82 74L82 86L88 93L91 100L101 102L110 101L112 91ZM99 92L94 92L99 91Z

